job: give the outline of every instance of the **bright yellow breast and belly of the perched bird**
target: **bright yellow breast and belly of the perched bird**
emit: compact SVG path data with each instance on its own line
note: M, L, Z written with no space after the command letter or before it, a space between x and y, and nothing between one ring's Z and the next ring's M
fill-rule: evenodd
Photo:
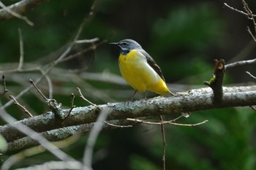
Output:
M170 93L165 81L149 66L141 53L136 53L136 50L130 51L127 55L119 55L118 63L124 80L135 90L149 90L163 96Z

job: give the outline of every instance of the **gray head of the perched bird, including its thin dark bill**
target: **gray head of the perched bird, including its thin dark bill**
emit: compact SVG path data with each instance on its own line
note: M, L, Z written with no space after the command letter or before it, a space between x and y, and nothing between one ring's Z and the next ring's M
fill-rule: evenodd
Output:
M141 46L138 42L132 39L123 39L120 42L111 42L112 45L117 45L120 49L120 53L126 55L131 50L141 49Z

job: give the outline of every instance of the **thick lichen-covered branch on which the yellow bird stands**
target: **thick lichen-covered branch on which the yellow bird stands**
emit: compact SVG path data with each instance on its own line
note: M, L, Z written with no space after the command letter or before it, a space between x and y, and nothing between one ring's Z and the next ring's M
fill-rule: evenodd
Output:
M223 87L223 99L221 104L213 102L211 88L200 88L190 90L187 95L173 96L170 98L150 98L140 101L124 101L89 107L76 107L72 109L66 120L56 119L52 112L45 113L24 120L15 122L29 126L38 132L50 131L57 128L69 127L71 125L82 125L94 123L97 120L99 111L109 109L108 120L124 120L126 118L147 117L158 115L170 115L180 112L193 112L205 109L217 109L224 107L245 107L256 105L256 85L243 87ZM67 114L69 109L64 109ZM13 127L14 125L3 125L0 127L0 134L7 142L20 139L25 135Z

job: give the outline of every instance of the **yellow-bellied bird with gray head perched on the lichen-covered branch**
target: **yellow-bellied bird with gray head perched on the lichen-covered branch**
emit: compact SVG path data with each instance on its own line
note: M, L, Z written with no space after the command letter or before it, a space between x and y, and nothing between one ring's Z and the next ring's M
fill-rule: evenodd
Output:
M119 47L118 65L121 75L135 89L135 93L152 91L162 96L174 96L167 88L160 67L138 42L133 39L123 39L110 44Z

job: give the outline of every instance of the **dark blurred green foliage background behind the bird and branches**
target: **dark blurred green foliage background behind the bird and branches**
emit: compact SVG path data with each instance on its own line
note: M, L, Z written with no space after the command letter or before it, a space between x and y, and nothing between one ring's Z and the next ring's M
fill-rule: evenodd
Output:
M67 45L75 35L92 2L47 1L26 13L35 23L33 27L16 18L1 21L0 69L6 69L4 63L18 63L18 28L23 31L26 63L42 64L57 58L61 47ZM255 1L247 3L256 12ZM242 9L241 1L227 1L227 4ZM223 1L106 0L99 1L97 14L86 26L81 39L98 37L108 39L109 42L135 39L161 66L165 79L170 83L170 90L188 90L203 87L203 81L208 80L213 72L214 58L223 58L226 62L255 58L255 43L252 43L245 31L250 24L246 17L224 7ZM84 48L86 45L76 46L72 53ZM74 61L61 63L59 67L67 71L63 74L67 74L69 69L87 68L83 72L119 75L118 50L104 44L94 53L86 53ZM225 85L249 83L251 80L244 73L245 70L254 73L255 67L246 66L227 72ZM29 85L29 78L37 78L31 77L35 76L31 72L23 74L20 73L20 77L16 75L23 87L8 81L13 74L6 74L10 94L15 96L18 93L16 89L21 90ZM53 98L64 104L64 107L69 107L69 95L76 93L75 87L78 84L73 81L52 81L55 87L59 87L53 89L56 91ZM108 96L109 100L89 94L87 97L96 104L125 101L133 93L127 85L86 79L80 81L86 83L84 88L98 90L102 96ZM48 93L48 89L44 88L45 82L40 85ZM47 112L48 107L37 96L30 92L20 102L26 104L34 114ZM143 94L138 95L137 98L142 96ZM9 98L1 98L1 103L8 100ZM75 105L86 104L76 98ZM15 106L9 107L7 111L15 113L13 116L18 119L26 117L18 115L20 110ZM173 117L165 117L165 120L171 118ZM256 115L252 109L193 112L191 117L181 122L198 123L203 120L209 122L196 128L166 127L167 169L255 169ZM63 150L74 158L82 158L81 150L86 144L86 138L80 137ZM8 152L3 159L12 154L14 152ZM54 159L45 152L28 157L16 166L29 166L31 162L37 164ZM137 125L134 128L102 132L95 148L94 169L162 169L160 128L154 125Z

